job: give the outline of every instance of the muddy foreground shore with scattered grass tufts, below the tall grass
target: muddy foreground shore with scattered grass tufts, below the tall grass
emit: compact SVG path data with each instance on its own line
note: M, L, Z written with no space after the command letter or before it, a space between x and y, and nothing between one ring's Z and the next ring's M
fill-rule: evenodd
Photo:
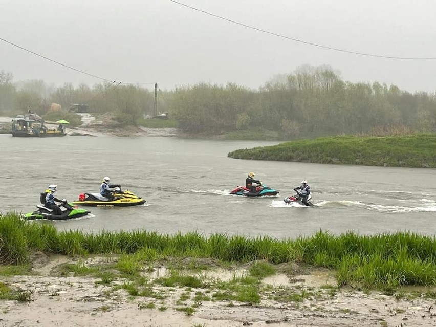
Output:
M372 327L432 325L436 316L434 290L339 289L329 271L297 265L220 267L188 257L136 276L95 273L122 260L35 252L30 274L2 276L0 325Z

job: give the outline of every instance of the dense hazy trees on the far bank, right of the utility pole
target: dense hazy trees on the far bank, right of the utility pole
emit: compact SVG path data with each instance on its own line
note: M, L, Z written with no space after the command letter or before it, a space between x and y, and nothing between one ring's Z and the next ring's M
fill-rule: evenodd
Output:
M172 114L191 132L260 128L288 139L368 133L379 126L436 132L436 94L347 82L328 66L302 66L259 90L232 83L177 88Z

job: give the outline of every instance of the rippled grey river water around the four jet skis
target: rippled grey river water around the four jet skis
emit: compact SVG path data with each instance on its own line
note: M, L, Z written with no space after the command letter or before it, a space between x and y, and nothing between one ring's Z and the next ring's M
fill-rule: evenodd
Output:
M147 200L148 206L91 208L92 215L47 222L84 231L147 229L310 235L318 230L360 234L410 230L433 234L434 169L236 160L238 148L277 142L192 140L172 137L12 138L0 135L0 211L33 211L39 193L58 184L69 201L98 192L104 176ZM277 198L228 195L254 171ZM282 201L309 180L315 207Z

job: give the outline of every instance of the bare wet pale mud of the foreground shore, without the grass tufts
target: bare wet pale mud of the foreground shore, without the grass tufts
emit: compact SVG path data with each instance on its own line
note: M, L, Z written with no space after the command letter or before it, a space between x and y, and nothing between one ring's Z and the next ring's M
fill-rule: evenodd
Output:
M85 263L101 264L104 260L108 259L89 258ZM59 267L69 262L75 261L64 256L39 258L34 264L38 275L1 277L10 288L25 292L30 301L0 300L0 326L436 326L434 299L407 292L394 297L350 289L332 291L325 287L334 284L328 271L292 278L279 273L267 277L263 280L267 291L262 292L260 303L251 304L212 300L213 296L195 301L194 294L212 295L215 290L159 284L152 284L152 289L164 295L160 299L130 296L116 288L125 282L122 278L102 285L99 278L76 277L73 273L59 277ZM243 267L214 268L203 277L209 274L213 280L225 280L239 273L244 273ZM165 267L145 274L151 281L165 274ZM283 300L281 295L287 292L313 296L301 301ZM185 296L183 302L181 296ZM188 306L195 307L192 315L180 311Z

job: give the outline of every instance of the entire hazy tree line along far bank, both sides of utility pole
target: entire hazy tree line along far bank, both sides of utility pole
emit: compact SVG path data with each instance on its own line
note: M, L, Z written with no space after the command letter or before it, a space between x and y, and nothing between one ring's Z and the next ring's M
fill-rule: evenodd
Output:
M52 102L69 108L86 103L95 113L112 112L135 124L154 110L154 91L135 85L102 83L49 88L43 81L13 83L0 71L0 112L41 113ZM234 83L197 83L160 91L158 107L188 133L274 130L284 138L368 133L380 126L436 132L436 94L410 93L396 85L349 82L329 66L302 66L276 76L258 90Z

